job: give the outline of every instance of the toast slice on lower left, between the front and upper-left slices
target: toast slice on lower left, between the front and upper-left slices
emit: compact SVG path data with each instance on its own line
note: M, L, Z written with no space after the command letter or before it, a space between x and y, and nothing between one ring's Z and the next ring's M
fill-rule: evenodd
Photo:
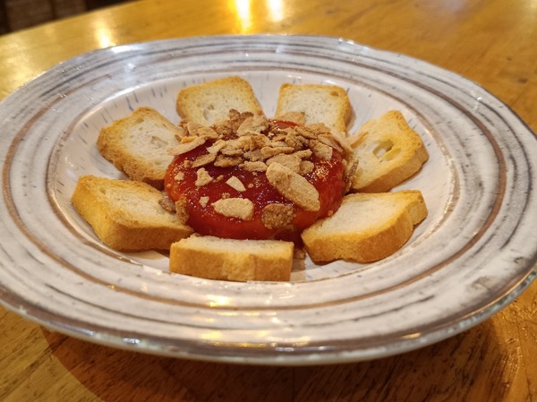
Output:
M161 198L149 184L84 175L74 189L72 205L115 250L167 250L191 235L192 228L164 210L158 203Z

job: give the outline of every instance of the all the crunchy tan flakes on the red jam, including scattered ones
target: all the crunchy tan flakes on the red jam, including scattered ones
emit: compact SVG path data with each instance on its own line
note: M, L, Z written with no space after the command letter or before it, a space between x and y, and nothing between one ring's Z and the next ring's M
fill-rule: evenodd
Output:
M353 158L353 150L345 133L336 133L326 124L304 125L303 113L292 112L280 116L280 120L299 125L280 128L277 123L264 115L240 113L234 109L229 111L227 120L210 127L182 121L179 124L183 130L181 143L170 150L170 153L182 154L209 141L207 154L184 161L184 167L198 168L195 183L197 186L209 184L215 179L203 168L209 164L215 167L240 167L255 174L266 172L268 182L287 200L304 210L320 210L319 192L305 178L315 168L311 158L328 161L332 158L334 150L340 152L344 159L345 180L348 187L357 165ZM177 180L181 178L176 177ZM221 178L217 177L216 180ZM236 176L231 177L226 183L238 192L245 191L246 187L255 186L255 183L243 184ZM203 201L205 205L207 202L209 201ZM250 207L246 206L247 203L247 200L235 200L227 194L212 205L219 211L218 213L231 214L230 216L236 218L248 217L250 212L244 212L250 210ZM234 212L231 212L232 207L236 209ZM282 227L288 224L285 222L292 213L284 207L286 206L283 204L270 206L267 211L263 211L266 216L263 222L266 221L270 227ZM238 210L242 212L237 212Z

